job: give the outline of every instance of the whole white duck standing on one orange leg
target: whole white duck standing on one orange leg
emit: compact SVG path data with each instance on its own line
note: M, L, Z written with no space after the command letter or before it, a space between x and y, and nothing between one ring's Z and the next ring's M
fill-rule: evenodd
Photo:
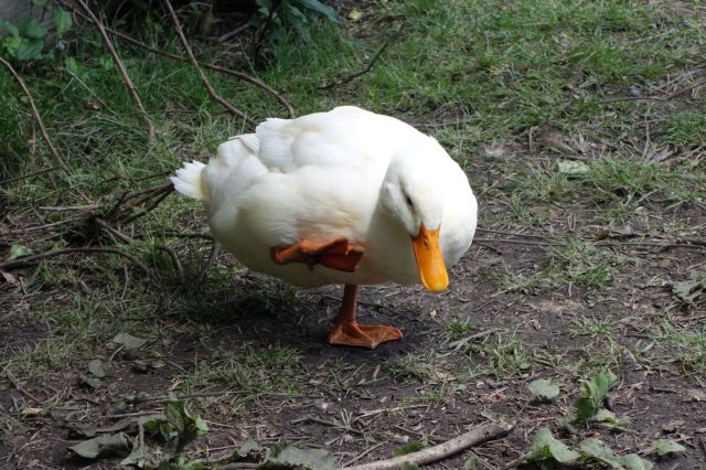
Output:
M213 236L245 266L299 286L345 285L331 344L402 338L355 321L357 286L441 291L475 232L475 197L441 146L352 106L267 119L171 180L204 202Z

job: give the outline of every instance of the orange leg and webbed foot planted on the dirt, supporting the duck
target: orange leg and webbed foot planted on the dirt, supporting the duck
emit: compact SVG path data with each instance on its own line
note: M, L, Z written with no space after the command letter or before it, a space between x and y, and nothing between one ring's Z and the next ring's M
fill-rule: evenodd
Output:
M355 321L357 286L346 284L343 290L343 305L335 318L335 325L329 333L329 344L362 346L374 350L385 341L399 340L402 331L382 324L366 325Z

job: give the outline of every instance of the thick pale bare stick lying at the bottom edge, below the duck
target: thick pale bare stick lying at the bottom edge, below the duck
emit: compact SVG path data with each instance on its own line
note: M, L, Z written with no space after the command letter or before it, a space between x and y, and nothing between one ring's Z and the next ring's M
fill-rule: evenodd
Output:
M376 462L364 463L355 467L346 467L345 470L392 470L397 467L402 467L406 462L424 466L427 463L442 460L449 456L468 449L469 447L485 442L491 439L495 439L501 436L506 436L513 426L509 424L504 425L482 425L470 431L462 434L461 436L439 444L434 447L420 450L418 452L408 453L402 457L395 457L394 459L378 460Z

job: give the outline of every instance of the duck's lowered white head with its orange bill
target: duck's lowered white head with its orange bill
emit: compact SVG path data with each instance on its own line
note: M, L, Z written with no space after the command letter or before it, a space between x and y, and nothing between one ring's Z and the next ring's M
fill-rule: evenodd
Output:
M419 280L428 290L440 292L449 285L439 245L443 170L449 157L436 140L429 140L429 145L406 148L395 154L383 181L381 203L409 234Z

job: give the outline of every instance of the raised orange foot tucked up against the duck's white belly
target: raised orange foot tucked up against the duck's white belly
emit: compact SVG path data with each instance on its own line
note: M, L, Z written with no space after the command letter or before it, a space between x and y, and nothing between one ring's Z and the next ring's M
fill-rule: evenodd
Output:
M322 265L331 269L353 273L363 257L363 247L340 237L328 243L302 239L293 245L280 245L270 248L269 255L278 265L306 263L309 266Z

